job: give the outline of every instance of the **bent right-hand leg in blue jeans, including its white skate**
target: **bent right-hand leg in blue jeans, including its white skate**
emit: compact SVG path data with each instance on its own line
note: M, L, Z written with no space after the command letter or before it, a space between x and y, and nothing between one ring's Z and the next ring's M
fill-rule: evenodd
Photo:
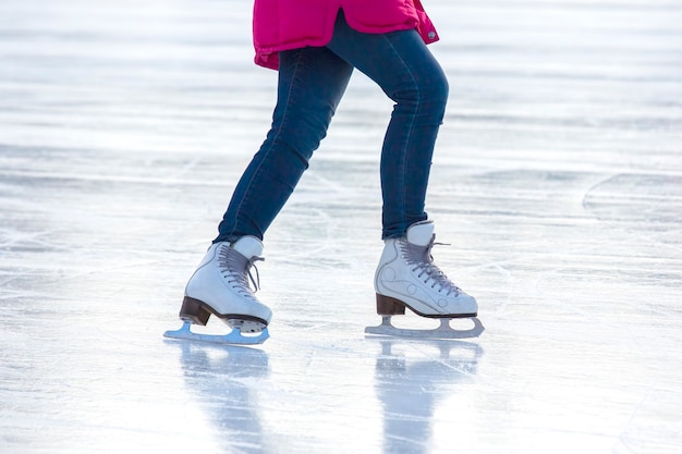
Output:
M476 299L434 262L435 230L424 211L434 146L448 99L443 71L415 30L361 34L348 26L342 14L328 48L395 101L381 151L385 246L375 273L377 312L401 315L410 307L423 317L475 317ZM441 328L446 336L462 334ZM382 323L373 332L400 331Z

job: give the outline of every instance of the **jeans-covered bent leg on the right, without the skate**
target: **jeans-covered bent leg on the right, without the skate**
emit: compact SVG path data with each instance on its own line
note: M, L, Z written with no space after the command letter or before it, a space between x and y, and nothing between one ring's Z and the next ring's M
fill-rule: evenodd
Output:
M416 30L362 34L339 15L327 46L375 81L395 101L381 151L382 238L401 237L424 221L436 136L448 81Z

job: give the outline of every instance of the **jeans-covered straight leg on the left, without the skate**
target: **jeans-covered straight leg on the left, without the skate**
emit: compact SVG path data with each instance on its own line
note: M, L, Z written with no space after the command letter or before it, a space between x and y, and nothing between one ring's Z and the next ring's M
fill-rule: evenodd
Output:
M280 52L272 126L234 189L214 243L263 240L327 134L353 66L327 48Z

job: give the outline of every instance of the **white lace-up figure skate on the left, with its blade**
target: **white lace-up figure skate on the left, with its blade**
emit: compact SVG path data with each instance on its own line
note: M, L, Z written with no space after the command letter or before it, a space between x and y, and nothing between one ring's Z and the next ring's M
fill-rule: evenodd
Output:
M163 335L227 344L265 342L272 312L256 298L249 285L251 280L258 286L249 271L256 260L263 260L261 253L263 243L255 236L211 245L185 289L180 309L183 326ZM191 324L206 326L211 314L230 326L232 332L226 335L192 332Z

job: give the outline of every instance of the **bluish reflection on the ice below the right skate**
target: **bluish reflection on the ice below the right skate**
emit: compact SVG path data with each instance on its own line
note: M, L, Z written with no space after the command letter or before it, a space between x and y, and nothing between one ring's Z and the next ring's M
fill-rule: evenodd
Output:
M427 453L438 402L450 394L456 382L476 373L483 348L462 341L418 341L418 345L436 347L438 355L411 360L393 352L395 346L410 345L411 341L380 342L376 390L383 409L383 452Z

